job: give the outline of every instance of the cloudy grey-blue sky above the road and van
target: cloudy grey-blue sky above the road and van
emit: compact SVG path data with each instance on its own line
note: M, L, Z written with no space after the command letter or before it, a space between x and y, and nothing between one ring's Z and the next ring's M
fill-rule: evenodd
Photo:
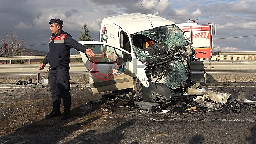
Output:
M214 51L256 51L256 0L0 0L0 36L15 32L26 48L48 51L49 21L60 18L77 39L87 23L99 40L103 18L126 13L156 14L174 23L215 23ZM142 6L144 9L142 8Z

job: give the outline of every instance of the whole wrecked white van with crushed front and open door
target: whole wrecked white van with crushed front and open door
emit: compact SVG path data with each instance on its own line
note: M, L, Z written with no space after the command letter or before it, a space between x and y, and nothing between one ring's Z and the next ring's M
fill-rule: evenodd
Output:
M133 88L144 102L183 99L191 86L195 56L184 32L159 16L123 14L104 18L100 41L82 41L94 57L80 52L93 93Z

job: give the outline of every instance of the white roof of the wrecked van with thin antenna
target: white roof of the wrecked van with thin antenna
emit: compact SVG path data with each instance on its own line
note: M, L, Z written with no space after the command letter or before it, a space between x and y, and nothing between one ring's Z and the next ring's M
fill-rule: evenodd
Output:
M118 16L104 18L103 20L110 21L111 23L121 26L122 28L127 30L129 34L153 29L159 26L174 24L172 21L169 21L165 18L152 14L141 13L122 14ZM153 27L151 26L150 21Z

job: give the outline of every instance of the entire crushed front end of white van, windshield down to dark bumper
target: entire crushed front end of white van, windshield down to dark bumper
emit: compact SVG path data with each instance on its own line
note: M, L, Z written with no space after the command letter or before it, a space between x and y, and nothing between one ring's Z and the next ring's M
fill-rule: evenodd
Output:
M195 56L183 31L173 24L137 32L131 38L136 57L146 66L148 87L136 81L142 101L183 99L180 94L191 86L189 64Z

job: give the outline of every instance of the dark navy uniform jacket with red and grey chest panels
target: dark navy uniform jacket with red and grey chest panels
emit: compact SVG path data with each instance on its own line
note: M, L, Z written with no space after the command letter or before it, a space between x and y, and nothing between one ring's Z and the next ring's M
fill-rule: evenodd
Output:
M72 38L63 30L58 34L52 34L49 42L49 52L43 63L48 64L51 69L69 68L70 48L85 52L86 47Z

